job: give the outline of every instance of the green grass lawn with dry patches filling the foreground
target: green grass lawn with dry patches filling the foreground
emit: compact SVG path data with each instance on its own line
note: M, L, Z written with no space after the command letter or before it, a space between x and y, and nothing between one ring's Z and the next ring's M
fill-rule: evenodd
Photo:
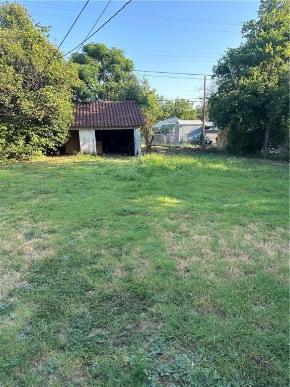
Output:
M1 387L288 385L288 166L0 168Z

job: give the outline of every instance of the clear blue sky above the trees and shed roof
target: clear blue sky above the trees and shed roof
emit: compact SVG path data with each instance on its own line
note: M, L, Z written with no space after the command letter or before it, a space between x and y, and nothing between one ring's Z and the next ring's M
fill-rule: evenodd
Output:
M85 4L84 1L20 1L35 21L50 25L50 40L59 43ZM96 28L126 0L114 0ZM107 4L91 0L63 43L63 51L78 45ZM138 1L133 0L91 41L125 50L136 70L211 74L216 60L242 40L242 22L256 18L256 1ZM139 74L144 74L140 72ZM150 73L151 86L166 98L202 95L203 77L175 79Z

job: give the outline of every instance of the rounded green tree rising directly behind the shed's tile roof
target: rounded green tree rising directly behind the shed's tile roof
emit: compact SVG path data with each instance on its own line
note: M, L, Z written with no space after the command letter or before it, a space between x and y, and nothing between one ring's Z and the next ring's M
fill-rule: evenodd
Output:
M118 48L103 43L89 43L81 53L73 53L71 60L78 64L83 84L75 91L80 101L108 101L118 99L122 89L135 78L134 64Z

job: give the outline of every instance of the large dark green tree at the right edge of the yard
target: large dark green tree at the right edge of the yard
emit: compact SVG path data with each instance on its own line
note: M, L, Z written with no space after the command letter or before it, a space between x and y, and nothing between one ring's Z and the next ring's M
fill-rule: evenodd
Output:
M233 152L266 156L287 136L289 124L289 3L262 0L258 19L243 25L244 43L213 68L216 92L210 118L228 131Z

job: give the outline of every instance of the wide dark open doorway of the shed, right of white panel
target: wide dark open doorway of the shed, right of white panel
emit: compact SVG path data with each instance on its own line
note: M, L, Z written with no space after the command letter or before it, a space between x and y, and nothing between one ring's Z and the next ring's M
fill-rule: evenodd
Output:
M97 153L134 156L134 130L112 129L95 131Z

